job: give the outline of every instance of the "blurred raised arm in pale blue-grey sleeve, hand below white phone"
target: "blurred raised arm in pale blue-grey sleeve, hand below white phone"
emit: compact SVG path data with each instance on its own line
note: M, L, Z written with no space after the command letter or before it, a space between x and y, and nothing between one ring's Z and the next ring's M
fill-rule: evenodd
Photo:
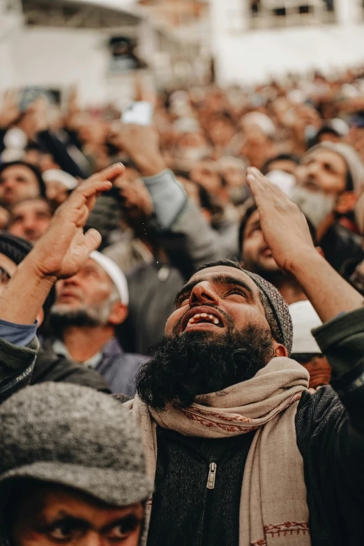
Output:
M128 153L141 172L153 202L160 243L184 276L206 261L231 256L218 232L167 169L153 128L121 125L110 141Z

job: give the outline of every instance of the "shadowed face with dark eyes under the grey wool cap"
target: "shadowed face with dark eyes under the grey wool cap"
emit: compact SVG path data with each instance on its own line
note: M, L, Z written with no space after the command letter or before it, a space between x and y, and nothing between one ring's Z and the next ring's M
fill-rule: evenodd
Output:
M141 503L112 507L82 492L39 483L17 499L10 536L15 546L137 546Z

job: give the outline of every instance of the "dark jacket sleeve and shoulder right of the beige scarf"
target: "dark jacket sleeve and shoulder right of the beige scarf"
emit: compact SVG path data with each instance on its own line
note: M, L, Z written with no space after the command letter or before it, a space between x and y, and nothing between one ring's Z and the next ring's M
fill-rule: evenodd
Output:
M312 544L364 544L364 308L313 333L333 380L303 393L296 415Z

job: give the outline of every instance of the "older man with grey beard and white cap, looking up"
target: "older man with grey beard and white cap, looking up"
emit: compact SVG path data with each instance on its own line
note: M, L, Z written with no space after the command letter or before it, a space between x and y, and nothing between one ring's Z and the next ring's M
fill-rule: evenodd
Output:
M50 323L56 354L100 372L112 392L133 395L134 377L145 357L125 353L116 339L128 303L121 269L100 252L91 252L73 277L57 282Z

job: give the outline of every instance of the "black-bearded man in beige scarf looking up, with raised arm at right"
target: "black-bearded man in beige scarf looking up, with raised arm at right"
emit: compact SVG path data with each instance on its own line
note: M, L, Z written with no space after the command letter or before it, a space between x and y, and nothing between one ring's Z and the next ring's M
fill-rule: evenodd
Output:
M296 205L257 169L248 183L275 261L326 322L314 335L332 386L308 392L272 285L232 261L192 275L126 402L155 483L148 546L363 543L363 297Z

